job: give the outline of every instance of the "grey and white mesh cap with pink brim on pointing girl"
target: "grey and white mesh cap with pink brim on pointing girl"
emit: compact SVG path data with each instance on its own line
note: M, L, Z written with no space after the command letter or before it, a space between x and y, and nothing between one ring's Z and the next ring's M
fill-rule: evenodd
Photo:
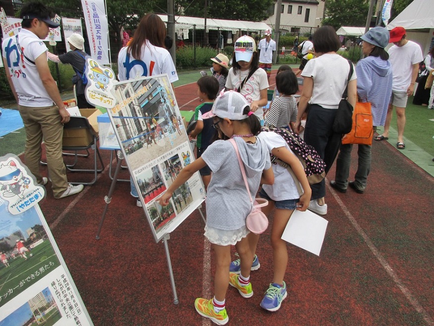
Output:
M214 102L213 109L203 114L202 118L209 119L218 116L229 120L244 120L248 117L247 114L243 114L246 107L250 109L244 96L238 92L228 91L220 93Z

